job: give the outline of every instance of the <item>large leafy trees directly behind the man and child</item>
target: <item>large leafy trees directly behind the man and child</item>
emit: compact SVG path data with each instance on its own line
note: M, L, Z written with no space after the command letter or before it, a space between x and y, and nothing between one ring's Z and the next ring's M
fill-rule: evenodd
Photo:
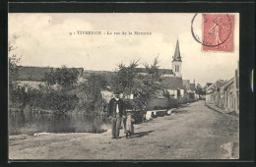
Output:
M161 89L159 63L156 58L152 65L146 64L146 74L138 73L138 61L133 61L129 66L118 65L118 71L112 80L112 90L124 94L133 93L134 101L144 111L149 99Z

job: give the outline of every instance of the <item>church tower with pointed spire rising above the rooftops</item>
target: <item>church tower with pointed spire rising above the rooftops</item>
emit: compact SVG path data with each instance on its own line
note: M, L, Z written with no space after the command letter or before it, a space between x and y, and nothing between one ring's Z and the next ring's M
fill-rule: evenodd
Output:
M173 58L173 60L172 60L172 72L173 72L175 77L182 78L182 74L181 74L182 61L181 61L180 52L179 52L178 40L177 40L177 43L176 43L174 56L172 58Z

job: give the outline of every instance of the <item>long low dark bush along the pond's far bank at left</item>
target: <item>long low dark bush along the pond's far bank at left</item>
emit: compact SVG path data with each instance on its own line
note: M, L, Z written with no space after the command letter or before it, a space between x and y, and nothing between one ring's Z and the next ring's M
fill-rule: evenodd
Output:
M37 109L50 110L53 112L66 113L74 110L79 102L76 94L69 91L54 89L50 86L40 86L40 89L29 88L26 91L24 86L10 89L11 105L34 107Z

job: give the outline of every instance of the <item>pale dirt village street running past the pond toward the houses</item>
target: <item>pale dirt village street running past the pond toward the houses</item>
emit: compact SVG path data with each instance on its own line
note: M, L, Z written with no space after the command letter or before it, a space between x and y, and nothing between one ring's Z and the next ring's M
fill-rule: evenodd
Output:
M209 109L205 101L170 116L135 125L133 139L103 134L11 136L10 159L224 159L238 158L234 117Z

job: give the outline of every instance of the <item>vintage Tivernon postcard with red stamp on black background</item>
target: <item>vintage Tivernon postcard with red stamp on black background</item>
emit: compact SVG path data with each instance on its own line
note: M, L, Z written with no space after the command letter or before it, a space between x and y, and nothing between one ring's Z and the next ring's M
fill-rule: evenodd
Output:
M239 159L238 13L9 13L9 159Z

